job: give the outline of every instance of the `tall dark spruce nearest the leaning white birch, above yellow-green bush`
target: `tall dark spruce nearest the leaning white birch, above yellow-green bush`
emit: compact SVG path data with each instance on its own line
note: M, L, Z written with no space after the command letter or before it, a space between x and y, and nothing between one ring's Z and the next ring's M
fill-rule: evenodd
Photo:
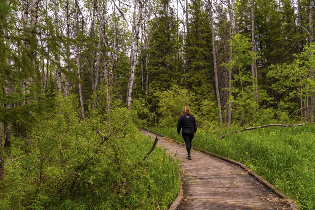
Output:
M151 29L155 29L158 22L149 45L150 95L163 88L169 89L174 81L178 84L181 73L178 65L181 61L178 58L179 49L177 49L178 22L174 9L169 6L169 0L158 3L158 18L153 19L150 26Z

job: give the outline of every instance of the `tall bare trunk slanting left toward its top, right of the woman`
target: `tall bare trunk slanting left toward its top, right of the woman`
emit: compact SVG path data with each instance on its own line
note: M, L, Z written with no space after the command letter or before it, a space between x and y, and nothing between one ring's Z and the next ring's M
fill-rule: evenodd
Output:
M213 23L213 16L212 16L212 8L211 8L211 2L209 1L209 16L210 16L210 22L211 22L211 31L212 31L212 52L213 52L213 64L214 64L214 71L215 71L215 92L219 107L219 122L222 124L222 112L221 112L221 98L220 98L220 92L219 92L219 80L218 80L218 72L217 72L217 65L216 65L216 51L215 51L215 28Z

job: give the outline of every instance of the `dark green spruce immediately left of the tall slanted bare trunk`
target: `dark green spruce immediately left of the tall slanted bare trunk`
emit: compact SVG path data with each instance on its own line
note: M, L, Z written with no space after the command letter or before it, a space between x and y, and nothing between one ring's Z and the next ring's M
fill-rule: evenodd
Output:
M203 1L193 0L188 7L189 33L186 36L186 74L181 83L196 93L198 105L214 93L213 57L209 14Z

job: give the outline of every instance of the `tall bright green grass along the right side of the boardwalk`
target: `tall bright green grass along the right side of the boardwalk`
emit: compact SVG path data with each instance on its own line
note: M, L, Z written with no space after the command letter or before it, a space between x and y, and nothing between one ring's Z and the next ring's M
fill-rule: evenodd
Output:
M150 128L182 142L176 128ZM227 135L226 128L213 132L198 129L192 145L244 163L303 209L315 208L314 125L267 127Z

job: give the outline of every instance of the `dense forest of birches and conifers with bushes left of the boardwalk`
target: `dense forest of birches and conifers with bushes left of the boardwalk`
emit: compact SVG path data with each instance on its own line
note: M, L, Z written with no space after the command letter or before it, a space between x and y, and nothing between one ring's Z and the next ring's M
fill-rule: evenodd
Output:
M0 204L167 208L178 163L162 150L140 161L152 142L137 127L172 127L184 106L210 132L314 123L313 9L314 0L1 1Z

